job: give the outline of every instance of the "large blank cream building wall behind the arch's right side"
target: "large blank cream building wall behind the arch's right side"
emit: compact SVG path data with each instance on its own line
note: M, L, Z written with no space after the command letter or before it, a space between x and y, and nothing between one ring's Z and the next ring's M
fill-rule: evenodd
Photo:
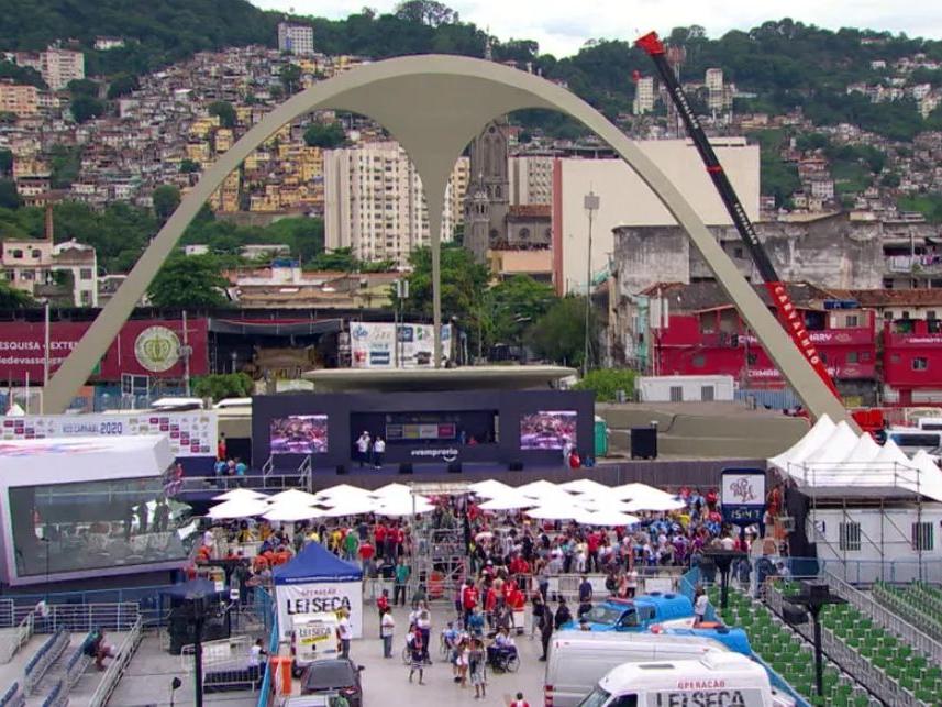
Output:
M692 143L686 140L643 141L638 145L684 194L707 225L731 224L723 202L703 169ZM743 202L746 214L758 219L758 147L742 137L714 142L717 154ZM600 206L592 224L592 270L605 268L614 250L612 229L620 225L675 225L634 170L620 159L562 159L553 200L561 214L554 222L561 243L556 257L557 289L585 291L588 219L583 198L594 191Z

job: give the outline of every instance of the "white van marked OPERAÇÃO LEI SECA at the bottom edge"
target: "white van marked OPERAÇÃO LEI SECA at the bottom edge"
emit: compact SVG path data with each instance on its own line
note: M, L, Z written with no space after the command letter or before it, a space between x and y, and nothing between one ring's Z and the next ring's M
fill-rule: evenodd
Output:
M599 681L579 707L794 707L765 669L739 653L695 661L625 663Z

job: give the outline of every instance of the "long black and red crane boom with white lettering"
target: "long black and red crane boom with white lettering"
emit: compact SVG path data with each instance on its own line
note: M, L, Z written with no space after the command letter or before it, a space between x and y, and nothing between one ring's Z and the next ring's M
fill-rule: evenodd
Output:
M840 398L838 389L834 386L834 382L828 374L828 369L824 367L824 362L821 360L821 355L818 353L814 342L811 341L810 333L805 325L805 318L795 309L795 303L791 301L788 288L778 279L775 266L773 266L772 259L769 259L768 254L765 252L762 243L760 243L758 235L756 234L752 222L749 220L745 209L736 196L735 189L733 189L733 185L730 183L727 173L723 170L723 166L720 164L710 141L707 139L707 134L700 126L700 121L690 108L690 103L687 100L687 96L684 93L680 81L667 64L664 44L657 37L655 32L651 32L640 37L635 44L644 49L654 60L654 66L657 68L657 73L661 75L661 79L664 81L664 85L667 87L671 100L677 108L677 112L684 121L687 133L694 141L694 145L697 147L697 152L700 154L700 158L707 167L707 174L710 175L710 179L712 179L713 185L720 195L720 199L722 199L743 244L755 263L758 274L762 276L762 279L765 280L765 288L772 297L772 301L778 312L778 319L782 322L782 325L785 327L785 330L791 336L791 341L795 342L795 345L808 363L811 364L811 367L814 368L814 373L817 373L821 380L824 382L831 393L834 394L834 397Z

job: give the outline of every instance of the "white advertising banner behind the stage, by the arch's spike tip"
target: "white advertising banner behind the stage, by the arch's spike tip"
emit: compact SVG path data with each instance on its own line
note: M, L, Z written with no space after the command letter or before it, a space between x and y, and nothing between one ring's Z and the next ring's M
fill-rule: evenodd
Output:
M431 324L399 324L400 368L434 366L434 328ZM350 331L353 368L396 367L396 324L357 322ZM452 327L442 327L442 354L452 349Z

